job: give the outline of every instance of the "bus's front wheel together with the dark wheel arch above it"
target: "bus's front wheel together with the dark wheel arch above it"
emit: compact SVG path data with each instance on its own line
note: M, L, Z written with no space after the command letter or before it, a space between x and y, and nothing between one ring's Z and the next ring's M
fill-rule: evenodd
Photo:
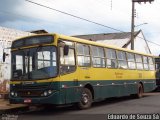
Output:
M82 88L81 92L81 98L78 103L78 108L79 109L88 109L91 107L92 102L93 102L93 87L90 84L85 85Z

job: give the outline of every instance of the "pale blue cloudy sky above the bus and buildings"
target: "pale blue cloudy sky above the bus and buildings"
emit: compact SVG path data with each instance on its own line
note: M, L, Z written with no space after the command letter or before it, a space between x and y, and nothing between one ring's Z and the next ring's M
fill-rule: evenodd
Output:
M0 0L0 26L22 31L45 29L51 33L82 35L131 31L132 0ZM87 19L96 25L60 12ZM142 30L154 55L160 54L160 1L135 3L135 31ZM147 23L147 24L143 24ZM142 25L140 25L142 24ZM139 26L140 25L140 26ZM108 27L107 27L108 26ZM114 28L119 31L116 31ZM153 44L154 42L156 44Z

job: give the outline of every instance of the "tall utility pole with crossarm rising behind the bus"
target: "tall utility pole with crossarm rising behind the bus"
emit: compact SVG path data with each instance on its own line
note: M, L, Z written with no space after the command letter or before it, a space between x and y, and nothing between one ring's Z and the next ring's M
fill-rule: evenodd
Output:
M134 10L135 10L135 3L141 3L141 2L149 2L151 3L154 0L132 0L132 21L131 21L131 50L134 50Z

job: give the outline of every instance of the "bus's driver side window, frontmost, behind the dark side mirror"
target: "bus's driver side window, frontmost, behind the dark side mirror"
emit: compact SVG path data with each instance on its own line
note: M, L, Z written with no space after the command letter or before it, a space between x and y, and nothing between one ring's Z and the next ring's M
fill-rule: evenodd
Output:
M64 44L67 42L63 41ZM64 45L59 44L59 51L60 51L60 73L67 74L74 72L76 69L76 62L75 62L75 49L74 47L69 46L68 54L64 54Z

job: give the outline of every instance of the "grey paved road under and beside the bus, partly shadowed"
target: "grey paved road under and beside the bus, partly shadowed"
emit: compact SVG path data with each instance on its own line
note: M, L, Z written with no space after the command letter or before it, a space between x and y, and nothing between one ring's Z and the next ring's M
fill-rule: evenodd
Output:
M132 97L107 99L94 103L92 108L87 110L77 110L73 106L43 109L20 114L18 120L107 120L108 115L111 114L128 116L129 114L147 114L153 117L157 113L160 114L160 93L158 92L146 93L141 99ZM160 119L160 115L155 117Z

